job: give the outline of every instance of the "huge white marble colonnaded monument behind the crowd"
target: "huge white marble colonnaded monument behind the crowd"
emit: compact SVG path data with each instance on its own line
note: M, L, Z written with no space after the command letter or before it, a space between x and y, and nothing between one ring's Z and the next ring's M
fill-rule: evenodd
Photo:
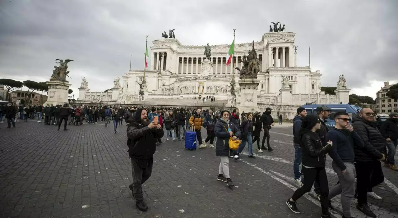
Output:
M121 84L114 82L112 91L107 93L88 92L88 88L82 86L79 100L90 102L97 97L104 103L132 104L141 100L140 104L144 104L145 101L156 102L156 99L161 102L163 99L193 99L201 95L228 101L228 106L233 102L232 106L239 108L244 100L241 97L245 96L245 101L255 102L258 109L271 107L273 113L279 111L287 117L293 117L297 106L306 103L348 103L349 90L345 81L344 86L336 90L336 95L325 95L320 90L322 73L311 71L308 66L297 67L293 32L269 32L262 35L261 41L235 44L233 64L231 61L228 66L226 55L230 45L210 45L211 57L207 60L204 45L182 45L174 38L158 39L152 43L150 66L145 70L147 91L144 97L139 95L144 70L129 70L122 76ZM260 72L254 82L257 88L244 90L242 95L239 71L234 67L242 68L242 56L248 55L252 46L260 64ZM228 97L232 73L235 75L234 100ZM254 90L257 93L252 96L257 97L251 99L250 92Z

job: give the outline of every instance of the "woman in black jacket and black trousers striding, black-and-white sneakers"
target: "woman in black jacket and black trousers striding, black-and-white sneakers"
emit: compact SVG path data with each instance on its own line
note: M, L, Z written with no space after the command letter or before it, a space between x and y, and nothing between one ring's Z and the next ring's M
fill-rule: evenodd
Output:
M324 147L316 130L320 129L320 121L315 115L307 115L301 123L301 129L298 133L300 146L302 148L302 172L304 174L304 185L298 188L293 196L286 201L287 206L294 213L299 214L296 201L305 193L311 191L314 181L317 179L321 189L321 208L322 217L329 215L329 186L326 176L325 159L326 153L332 148L332 142L329 141Z

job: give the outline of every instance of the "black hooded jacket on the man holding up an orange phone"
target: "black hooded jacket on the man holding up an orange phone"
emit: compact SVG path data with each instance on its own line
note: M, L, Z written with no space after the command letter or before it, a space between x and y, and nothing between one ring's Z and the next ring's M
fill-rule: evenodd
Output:
M129 146L129 156L138 159L139 165L146 165L146 160L153 157L156 151L157 138L162 138L162 129L150 129L141 123L141 112L138 109L135 113L134 121L127 127L127 146ZM141 163L142 162L142 163Z

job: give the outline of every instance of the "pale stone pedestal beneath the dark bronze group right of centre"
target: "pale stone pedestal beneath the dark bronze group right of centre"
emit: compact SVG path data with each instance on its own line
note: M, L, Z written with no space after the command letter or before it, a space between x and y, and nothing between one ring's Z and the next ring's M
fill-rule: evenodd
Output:
M239 111L255 112L259 111L257 106L257 90L260 80L257 78L245 78L239 80L240 86L240 106Z

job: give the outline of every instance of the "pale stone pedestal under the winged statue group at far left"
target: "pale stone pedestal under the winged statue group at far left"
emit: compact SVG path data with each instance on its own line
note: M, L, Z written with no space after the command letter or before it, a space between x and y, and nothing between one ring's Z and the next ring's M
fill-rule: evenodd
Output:
M64 105L68 103L69 84L66 80L50 80L46 82L49 85L47 102L44 105Z

